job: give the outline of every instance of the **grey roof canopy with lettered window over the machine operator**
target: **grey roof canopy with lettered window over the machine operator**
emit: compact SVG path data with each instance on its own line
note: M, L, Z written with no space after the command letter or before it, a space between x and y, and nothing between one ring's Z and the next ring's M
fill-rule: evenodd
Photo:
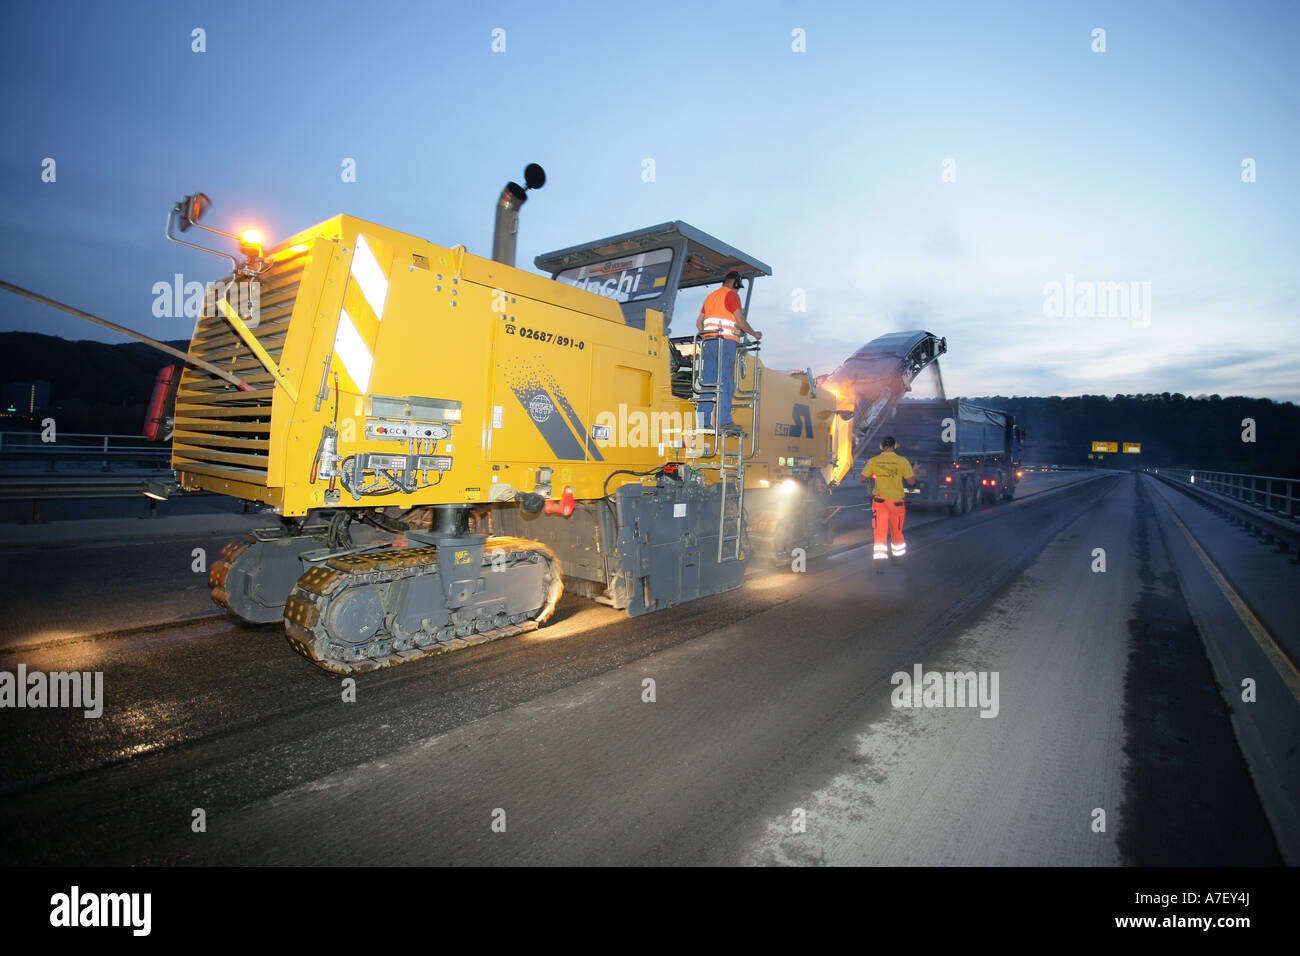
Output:
M533 263L559 282L615 299L633 328L645 328L647 308L663 312L664 330L681 289L722 282L728 272L742 280L772 274L766 263L681 220L546 252Z

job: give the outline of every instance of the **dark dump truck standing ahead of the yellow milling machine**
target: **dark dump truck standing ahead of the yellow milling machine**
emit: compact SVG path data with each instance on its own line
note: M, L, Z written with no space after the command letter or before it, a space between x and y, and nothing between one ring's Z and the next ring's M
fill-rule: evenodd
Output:
M881 432L897 440L898 454L916 472L909 505L945 506L962 515L1010 501L1023 476L1024 429L1005 411L962 399L904 399Z

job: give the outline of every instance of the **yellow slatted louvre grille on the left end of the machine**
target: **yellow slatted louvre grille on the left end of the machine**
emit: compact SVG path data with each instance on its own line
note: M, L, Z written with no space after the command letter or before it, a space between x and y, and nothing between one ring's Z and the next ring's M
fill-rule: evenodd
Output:
M285 337L289 334L306 259L298 256L261 276L259 320L251 332L277 364L285 350ZM228 277L214 287L226 287L229 281ZM231 306L242 306L238 311L247 320L247 300L240 302L234 291L228 298ZM190 355L238 376L250 390L240 392L204 368L186 368L176 399L173 467L196 475L265 485L274 381L216 310L216 294L212 289L190 342Z

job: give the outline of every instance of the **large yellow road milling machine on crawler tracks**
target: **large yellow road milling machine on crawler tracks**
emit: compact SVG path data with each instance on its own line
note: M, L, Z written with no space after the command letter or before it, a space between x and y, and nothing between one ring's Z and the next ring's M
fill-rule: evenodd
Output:
M491 259L351 216L274 246L230 237L240 255L195 326L172 466L182 489L278 514L222 549L212 593L244 620L283 619L321 667L520 633L564 587L646 614L829 541L852 405L742 342L740 429L698 428L718 384L701 341L670 334L681 290L738 272L748 315L771 269L673 221L538 256L543 277L514 265L525 200L503 190ZM168 237L207 202L178 203Z

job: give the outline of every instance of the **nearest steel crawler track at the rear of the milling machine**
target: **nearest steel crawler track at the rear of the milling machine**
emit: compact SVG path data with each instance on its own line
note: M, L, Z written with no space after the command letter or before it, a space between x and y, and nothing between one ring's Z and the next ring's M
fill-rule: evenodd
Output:
M538 541L490 537L481 551L450 541L441 548L441 562L439 546L320 562L285 605L289 643L335 674L370 671L532 631L564 591L559 558ZM456 568L448 584L448 562L467 554L477 575Z

